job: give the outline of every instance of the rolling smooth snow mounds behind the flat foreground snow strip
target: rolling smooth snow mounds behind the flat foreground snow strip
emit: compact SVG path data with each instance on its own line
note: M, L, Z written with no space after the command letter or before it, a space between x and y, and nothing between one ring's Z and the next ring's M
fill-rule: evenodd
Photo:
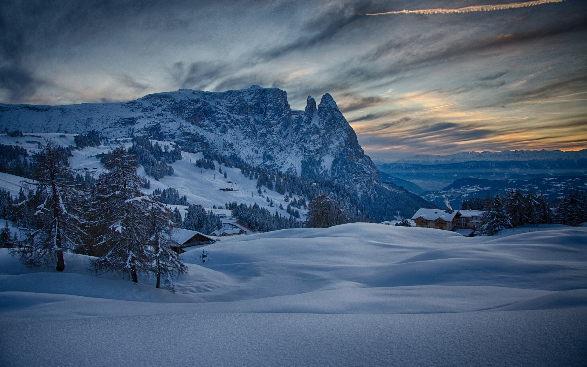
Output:
M481 311L552 294L559 294L557 307L566 307L565 291L587 289L586 241L587 228L498 238L365 223L281 230L185 252L190 274L176 282L176 294L144 278L137 288L113 274L94 277L82 255L69 255L63 273L31 272L4 252L0 309L42 318L76 318L81 309L94 316L412 314ZM211 259L205 264L202 248ZM582 302L587 305L587 298Z

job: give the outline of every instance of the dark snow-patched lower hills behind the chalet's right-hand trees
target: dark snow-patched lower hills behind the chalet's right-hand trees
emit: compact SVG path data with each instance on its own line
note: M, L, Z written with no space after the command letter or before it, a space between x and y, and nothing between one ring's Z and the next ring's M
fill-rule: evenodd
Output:
M510 190L521 190L527 193L532 190L535 193L542 192L550 201L556 197L568 195L571 190L587 190L587 176L554 176L509 180L486 179L458 179L439 191L426 191L422 197L440 207L446 207L446 203L454 209L461 207L463 199L472 197L484 198L489 193L494 196L499 193L504 196Z

